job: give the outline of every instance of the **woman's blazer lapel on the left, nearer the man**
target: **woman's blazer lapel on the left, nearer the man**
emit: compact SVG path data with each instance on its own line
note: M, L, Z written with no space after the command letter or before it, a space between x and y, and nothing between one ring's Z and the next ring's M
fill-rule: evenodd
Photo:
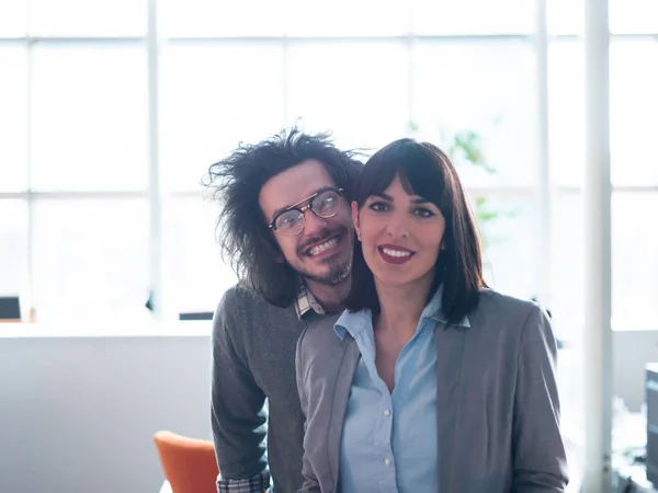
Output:
M338 485L338 462L340 454L340 439L342 435L343 421L345 410L348 408L348 399L350 398L350 389L354 379L354 371L361 353L359 346L351 335L345 335L342 341L344 348L343 358L336 378L336 389L333 393L333 402L331 404L331 419L329 421L329 431L327 437L327 451L329 456L329 468L333 478L333 491Z

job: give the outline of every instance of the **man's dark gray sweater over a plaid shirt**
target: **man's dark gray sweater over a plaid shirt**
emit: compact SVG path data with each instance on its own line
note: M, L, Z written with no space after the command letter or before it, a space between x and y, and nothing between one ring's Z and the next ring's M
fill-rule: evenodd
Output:
M242 286L228 289L217 307L213 437L223 480L249 484L240 491L258 491L258 482L249 479L268 466L276 493L295 492L303 483L304 414L295 385L295 345L307 324L293 305L275 307Z

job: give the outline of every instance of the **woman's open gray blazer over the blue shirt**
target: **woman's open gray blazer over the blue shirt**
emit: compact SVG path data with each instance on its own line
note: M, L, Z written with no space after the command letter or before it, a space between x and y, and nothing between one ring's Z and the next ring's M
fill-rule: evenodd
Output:
M337 320L315 322L297 342L303 493L339 490L341 433L360 352L352 337L336 335ZM440 493L563 492L567 461L548 318L533 302L485 289L468 320L468 329L436 329Z

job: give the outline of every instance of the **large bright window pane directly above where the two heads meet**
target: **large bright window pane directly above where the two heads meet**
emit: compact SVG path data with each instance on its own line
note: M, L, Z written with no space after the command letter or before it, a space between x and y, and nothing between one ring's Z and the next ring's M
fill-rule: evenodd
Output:
M309 42L288 49L288 121L331 130L340 146L377 149L407 129L404 46Z

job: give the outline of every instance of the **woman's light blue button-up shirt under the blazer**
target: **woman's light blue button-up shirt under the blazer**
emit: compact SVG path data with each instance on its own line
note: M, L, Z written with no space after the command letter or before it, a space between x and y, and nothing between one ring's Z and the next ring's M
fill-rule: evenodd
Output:
M341 437L342 493L439 490L434 331L445 324L441 296L439 289L397 358L393 393L375 367L370 310L345 311L336 322L337 335L343 339L349 333L361 351ZM468 319L461 325L469 326Z

